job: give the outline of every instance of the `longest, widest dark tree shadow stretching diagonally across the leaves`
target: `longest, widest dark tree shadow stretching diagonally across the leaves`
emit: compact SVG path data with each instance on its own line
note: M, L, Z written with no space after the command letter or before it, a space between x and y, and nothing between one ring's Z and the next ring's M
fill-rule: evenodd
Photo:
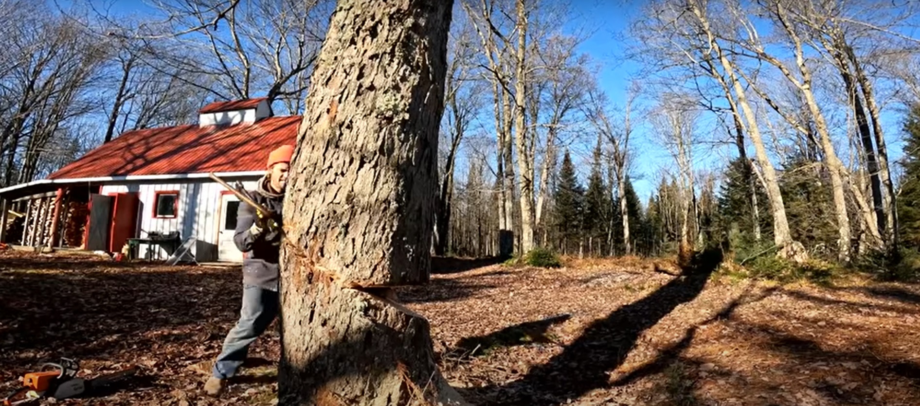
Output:
M680 276L649 296L593 321L572 344L546 364L512 383L473 389L495 404L557 405L592 389L608 386L608 372L619 367L638 337L682 303L696 299L723 259L719 249L696 254Z

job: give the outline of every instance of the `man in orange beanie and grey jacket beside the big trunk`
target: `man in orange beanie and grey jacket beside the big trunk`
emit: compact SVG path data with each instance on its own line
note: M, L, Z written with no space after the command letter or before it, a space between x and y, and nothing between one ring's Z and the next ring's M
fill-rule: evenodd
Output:
M256 192L250 193L256 203L270 209L281 221L284 186L293 154L292 145L270 152L268 170L259 179ZM217 395L224 389L227 378L236 375L236 369L246 360L249 344L259 338L278 315L278 257L281 254L282 230L269 216L240 202L236 212L236 248L244 253L243 305L239 321L224 339L224 349L217 356L212 377L204 384L204 391Z

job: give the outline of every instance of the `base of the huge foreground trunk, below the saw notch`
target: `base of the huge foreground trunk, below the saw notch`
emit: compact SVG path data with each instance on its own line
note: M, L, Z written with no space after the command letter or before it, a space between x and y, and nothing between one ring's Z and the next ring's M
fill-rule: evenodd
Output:
M279 405L466 405L438 371L424 317L385 292L305 285L282 293L282 309L305 311L282 314Z

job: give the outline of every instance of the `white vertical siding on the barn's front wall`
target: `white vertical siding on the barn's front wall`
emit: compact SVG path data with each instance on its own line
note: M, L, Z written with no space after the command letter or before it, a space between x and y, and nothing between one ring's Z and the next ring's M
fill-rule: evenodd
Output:
M243 186L252 190L256 181L244 181ZM171 219L154 218L155 197L158 191L178 190L178 216ZM147 232L172 232L178 231L182 241L195 237L197 243L192 247L192 252L199 261L213 261L217 259L217 233L220 227L221 194L226 189L224 186L210 180L189 183L159 183L159 184L132 184L132 185L106 185L102 186L100 193L109 195L114 193L137 192L140 200L138 208L139 229L135 237L146 237ZM141 245L138 254L147 256L150 249L152 259L166 259L167 253L158 246L148 247Z

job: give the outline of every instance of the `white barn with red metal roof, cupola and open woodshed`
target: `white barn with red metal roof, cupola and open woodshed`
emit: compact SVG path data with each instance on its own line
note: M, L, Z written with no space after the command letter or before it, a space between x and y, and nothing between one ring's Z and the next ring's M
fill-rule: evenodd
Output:
M134 239L134 257L187 247L199 262L241 261L238 199L209 174L251 190L269 152L296 140L301 117L273 117L265 98L199 113L198 124L128 131L47 179L0 189L0 242L119 253ZM176 233L183 245L144 243Z

